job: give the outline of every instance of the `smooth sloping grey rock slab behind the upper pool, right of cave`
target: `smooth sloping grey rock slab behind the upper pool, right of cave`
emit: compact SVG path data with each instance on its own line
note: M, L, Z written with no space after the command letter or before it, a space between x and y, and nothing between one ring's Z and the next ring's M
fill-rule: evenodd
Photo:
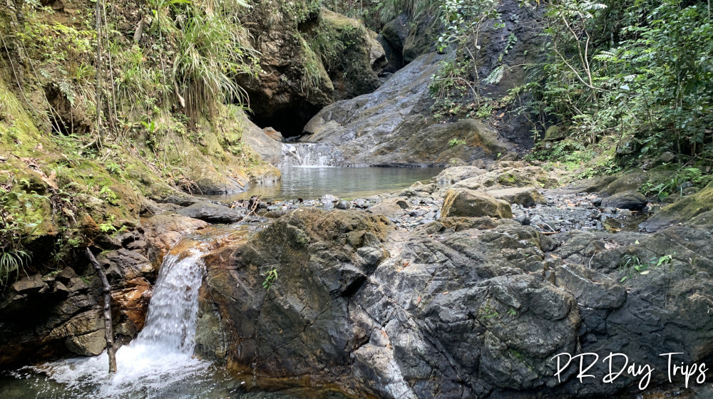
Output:
M434 124L424 118L441 58L421 56L374 93L322 109L305 126L305 140L333 146L339 165L446 165L453 157L471 162L508 152L512 146L477 120ZM466 144L448 145L453 138Z

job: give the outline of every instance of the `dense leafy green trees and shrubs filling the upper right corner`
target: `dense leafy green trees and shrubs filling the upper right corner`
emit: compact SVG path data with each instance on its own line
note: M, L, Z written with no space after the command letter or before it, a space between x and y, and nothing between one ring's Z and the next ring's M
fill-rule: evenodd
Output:
M540 123L617 155L713 159L707 1L541 1L548 58L530 68ZM613 140L612 140L613 138Z

